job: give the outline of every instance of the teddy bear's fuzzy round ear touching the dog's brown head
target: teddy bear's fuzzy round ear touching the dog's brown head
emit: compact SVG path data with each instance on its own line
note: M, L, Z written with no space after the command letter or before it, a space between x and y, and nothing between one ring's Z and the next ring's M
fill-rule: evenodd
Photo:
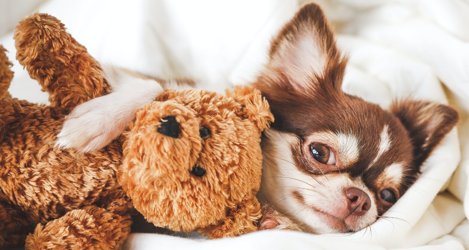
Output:
M261 132L269 128L273 114L261 91L250 86L236 86L233 90L227 90L226 94L242 105L239 116L252 121Z

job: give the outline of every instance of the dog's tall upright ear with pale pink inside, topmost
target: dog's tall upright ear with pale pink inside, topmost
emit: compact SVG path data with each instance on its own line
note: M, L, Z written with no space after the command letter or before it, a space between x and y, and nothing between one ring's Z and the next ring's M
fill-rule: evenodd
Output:
M297 92L340 91L346 60L317 4L303 6L280 30L272 40L269 56L266 74L280 79L265 82ZM267 88L261 91L268 92Z

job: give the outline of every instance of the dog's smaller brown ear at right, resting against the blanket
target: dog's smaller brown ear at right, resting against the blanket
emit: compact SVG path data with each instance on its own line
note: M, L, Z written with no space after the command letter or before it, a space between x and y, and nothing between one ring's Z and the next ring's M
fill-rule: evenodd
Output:
M459 120L458 112L443 104L405 100L390 108L408 130L414 145L414 159L420 166Z

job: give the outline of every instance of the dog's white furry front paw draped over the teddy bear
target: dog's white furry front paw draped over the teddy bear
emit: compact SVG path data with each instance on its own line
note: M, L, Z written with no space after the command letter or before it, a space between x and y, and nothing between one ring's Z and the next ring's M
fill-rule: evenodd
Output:
M76 106L57 135L57 146L80 152L101 149L121 135L134 119L136 109L151 103L163 92L154 80L115 72L107 79L113 92Z

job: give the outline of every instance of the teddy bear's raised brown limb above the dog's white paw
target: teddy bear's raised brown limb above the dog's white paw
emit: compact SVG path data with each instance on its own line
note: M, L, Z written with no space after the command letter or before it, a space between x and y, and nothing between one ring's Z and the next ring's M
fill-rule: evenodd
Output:
M49 93L52 106L71 110L106 94L99 63L55 17L36 13L15 28L16 58Z

